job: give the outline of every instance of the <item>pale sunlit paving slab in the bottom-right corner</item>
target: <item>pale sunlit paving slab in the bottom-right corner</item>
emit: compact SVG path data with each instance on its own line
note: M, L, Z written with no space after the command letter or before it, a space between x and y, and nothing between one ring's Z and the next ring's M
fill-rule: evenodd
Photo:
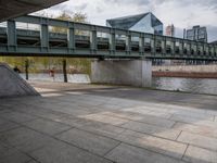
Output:
M189 146L183 160L191 163L217 163L217 152Z

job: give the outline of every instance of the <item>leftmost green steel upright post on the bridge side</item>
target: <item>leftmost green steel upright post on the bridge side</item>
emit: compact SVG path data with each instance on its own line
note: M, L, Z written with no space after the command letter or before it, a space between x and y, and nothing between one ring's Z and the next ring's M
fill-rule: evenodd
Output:
M16 50L16 23L15 21L11 21L9 20L7 22L8 24L8 32L7 32L7 35L8 35L8 48L9 48L9 51L15 51Z

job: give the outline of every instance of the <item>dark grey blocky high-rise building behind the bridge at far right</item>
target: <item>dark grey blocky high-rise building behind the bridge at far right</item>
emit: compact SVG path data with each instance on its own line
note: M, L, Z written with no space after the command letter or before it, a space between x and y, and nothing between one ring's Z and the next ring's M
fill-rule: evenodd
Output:
M186 38L189 40L207 42L208 38L206 27L201 27L200 25L193 26L192 29L187 30Z

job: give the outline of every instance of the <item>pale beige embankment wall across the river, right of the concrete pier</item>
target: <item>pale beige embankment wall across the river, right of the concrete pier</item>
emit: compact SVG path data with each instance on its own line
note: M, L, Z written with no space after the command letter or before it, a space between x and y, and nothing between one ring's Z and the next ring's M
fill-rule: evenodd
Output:
M195 73L217 73L217 65L174 65L174 66L153 66L154 72L195 72Z

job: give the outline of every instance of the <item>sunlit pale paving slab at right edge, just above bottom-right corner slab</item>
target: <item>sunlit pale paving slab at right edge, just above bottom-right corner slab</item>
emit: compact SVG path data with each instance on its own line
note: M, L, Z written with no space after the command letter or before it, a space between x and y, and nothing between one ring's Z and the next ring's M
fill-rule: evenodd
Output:
M201 136L199 134L182 131L178 137L178 141L217 151L217 139Z

